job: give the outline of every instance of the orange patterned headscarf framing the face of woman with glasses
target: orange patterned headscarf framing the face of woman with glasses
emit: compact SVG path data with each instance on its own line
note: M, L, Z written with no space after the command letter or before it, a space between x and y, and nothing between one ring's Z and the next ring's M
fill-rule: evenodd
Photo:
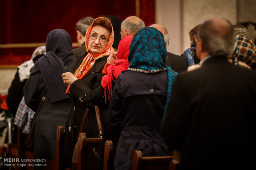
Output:
M99 17L99 18L104 18L104 17ZM99 18L96 18L95 20L97 20ZM107 18L104 18L104 19L106 19L111 24L111 22ZM88 73L88 71L92 68L92 66L96 60L98 60L102 57L105 57L107 55L110 55L112 52L114 52L114 48L112 47L113 42L114 42L114 30L113 30L112 24L111 24L112 32L109 36L109 41L107 42L107 46L100 53L97 53L97 54L92 54L88 50L88 35L91 32L94 21L92 22L92 24L90 25L90 27L88 28L88 30L85 33L85 48L86 48L86 51L88 52L88 54L84 57L83 62L81 63L81 65L78 67L78 69L74 73L74 75L78 79L82 79L83 76L85 76L85 74ZM70 87L70 85L69 85L69 87ZM67 88L66 93L69 92L69 87Z

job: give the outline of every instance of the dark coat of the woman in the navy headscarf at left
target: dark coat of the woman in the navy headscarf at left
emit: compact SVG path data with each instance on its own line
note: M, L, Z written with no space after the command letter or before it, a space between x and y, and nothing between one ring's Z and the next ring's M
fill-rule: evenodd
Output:
M30 75L24 86L26 105L36 112L45 94L42 74L39 72ZM36 117L34 159L55 160L56 129L58 125L65 126L70 109L70 98L52 103L49 97L46 97Z

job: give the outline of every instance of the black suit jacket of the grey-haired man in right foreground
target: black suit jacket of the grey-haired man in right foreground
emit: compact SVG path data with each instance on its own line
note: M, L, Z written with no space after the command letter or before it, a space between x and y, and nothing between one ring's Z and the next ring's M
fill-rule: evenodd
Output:
M255 103L256 72L225 57L179 74L161 131L180 169L256 169Z

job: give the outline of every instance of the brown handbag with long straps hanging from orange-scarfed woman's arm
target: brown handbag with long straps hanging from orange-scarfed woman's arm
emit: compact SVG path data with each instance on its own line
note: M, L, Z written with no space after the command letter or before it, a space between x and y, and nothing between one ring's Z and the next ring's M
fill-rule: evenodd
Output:
M96 118L97 118L97 125L98 125L99 135L100 135L100 138L102 138L102 126L101 126L101 121L100 121L99 108L97 106L94 106L94 107L95 107L95 113L96 113ZM82 122L81 122L81 125L80 125L79 133L82 133L82 131L83 131L83 126L85 124L85 119L88 115L88 112L89 112L89 108L87 107L85 109L84 114L83 114L83 119L82 119ZM78 140L79 140L79 138L78 138ZM75 145L74 150L73 150L72 163L77 163L77 161L78 161L78 157L77 157L78 156L78 140L77 140L76 145Z

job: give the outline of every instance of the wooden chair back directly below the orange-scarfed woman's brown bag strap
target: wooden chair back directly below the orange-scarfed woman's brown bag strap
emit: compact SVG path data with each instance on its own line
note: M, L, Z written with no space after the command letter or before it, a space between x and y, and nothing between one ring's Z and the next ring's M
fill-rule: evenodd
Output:
M97 170L97 159L93 148L100 152L101 138L86 138L85 133L79 134L77 170Z

